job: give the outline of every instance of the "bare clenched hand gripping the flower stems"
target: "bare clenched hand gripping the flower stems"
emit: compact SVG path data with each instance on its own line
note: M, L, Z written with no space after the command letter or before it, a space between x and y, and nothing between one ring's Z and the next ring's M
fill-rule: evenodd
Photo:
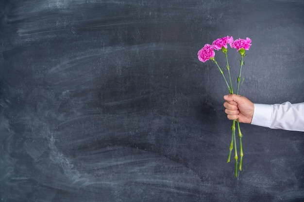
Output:
M228 94L224 96L224 107L227 118L236 120L240 123L251 124L253 118L254 105L246 97L236 94Z

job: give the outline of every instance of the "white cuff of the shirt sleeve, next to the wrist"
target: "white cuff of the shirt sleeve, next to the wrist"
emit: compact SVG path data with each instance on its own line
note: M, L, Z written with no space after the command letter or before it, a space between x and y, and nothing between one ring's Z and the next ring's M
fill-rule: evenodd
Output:
M271 114L272 114L272 106L265 104L253 104L253 118L251 124L270 127Z

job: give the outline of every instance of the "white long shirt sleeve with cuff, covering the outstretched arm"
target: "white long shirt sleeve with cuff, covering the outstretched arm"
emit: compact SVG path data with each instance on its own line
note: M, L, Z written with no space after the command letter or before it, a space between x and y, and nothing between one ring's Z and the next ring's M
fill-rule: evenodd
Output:
M254 104L251 124L304 132L304 103Z

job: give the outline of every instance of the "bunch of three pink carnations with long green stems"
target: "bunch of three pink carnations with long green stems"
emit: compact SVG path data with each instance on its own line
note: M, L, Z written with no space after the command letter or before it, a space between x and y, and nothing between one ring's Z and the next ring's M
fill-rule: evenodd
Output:
M230 45L231 48L236 48L239 54L241 55L241 60L240 60L240 68L239 68L239 74L237 79L237 88L236 88L236 94L238 94L239 90L239 84L241 81L241 71L242 71L242 66L244 65L244 57L245 55L245 50L249 50L251 46L251 39L246 38L246 39L236 39L233 40L232 36L226 36L223 38L219 38L215 40L212 45L206 44L201 50L198 52L198 58L201 62L206 62L208 60L211 60L214 62L218 69L220 70L220 74L223 76L225 83L227 85L229 93L233 94L233 88L232 88L232 81L231 81L231 75L230 75L230 66L228 63L228 57L227 57L227 48L228 44ZM228 76L229 76L229 83L224 75L223 70L220 68L218 62L215 60L215 51L214 50L221 50L225 54L226 58L226 68L228 71ZM237 150L236 150L236 123L237 123L237 128L238 128L238 136L239 136L239 141L240 141L240 162L239 162L239 170L242 170L242 160L243 160L243 147L242 147L242 133L241 129L239 127L239 122L237 120L233 120L231 130L232 130L232 136L231 136L231 142L230 142L230 147L229 147L229 155L228 155L228 160L227 163L230 162L231 158L231 152L233 148L235 148L235 160L236 160L236 177L237 177Z

